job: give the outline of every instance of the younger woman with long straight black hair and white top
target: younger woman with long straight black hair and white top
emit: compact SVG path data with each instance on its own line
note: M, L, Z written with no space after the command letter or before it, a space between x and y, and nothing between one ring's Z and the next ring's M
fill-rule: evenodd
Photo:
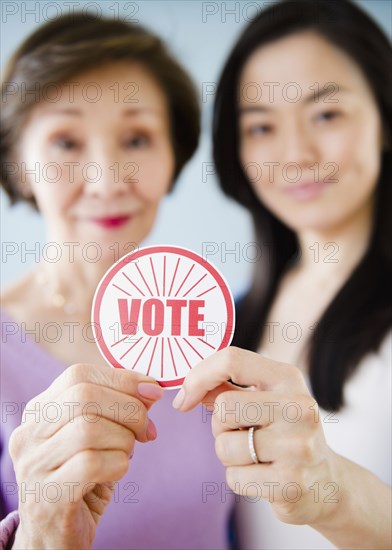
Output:
M243 548L391 547L391 62L353 3L289 1L250 23L219 82L216 168L262 255L239 347L176 404L214 402Z

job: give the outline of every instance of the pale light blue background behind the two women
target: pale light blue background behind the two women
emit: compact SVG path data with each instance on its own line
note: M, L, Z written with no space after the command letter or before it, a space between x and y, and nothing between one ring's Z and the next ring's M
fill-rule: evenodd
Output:
M392 35L392 3L390 0L358 1L388 33ZM234 294L248 284L252 263L246 260L247 244L252 242L252 229L247 213L225 198L213 176L203 178L203 163L210 157L210 115L213 96L203 97L209 83L218 79L223 62L242 27L258 9L271 2L200 2L200 1L101 1L68 2L76 8L89 4L104 14L120 17L133 14L133 19L155 30L169 44L172 52L193 75L203 108L203 134L199 150L178 181L175 192L162 205L153 232L144 244L179 244L203 252L203 243L217 243L218 252L208 258L227 278ZM6 61L18 44L47 18L53 18L67 2L8 2L3 0L1 63ZM136 12L137 9L137 12ZM12 13L15 12L15 13ZM216 12L206 15L209 12ZM204 17L203 17L204 14ZM203 21L204 19L204 21ZM29 207L8 207L3 193L1 202L1 240L15 242L19 253L1 258L1 284L15 279L34 265L35 258L22 255L45 242L40 216ZM236 244L238 243L238 244ZM3 244L4 246L4 244ZM235 254L225 254L236 250ZM245 258L244 258L244 254ZM26 260L26 261L23 261Z

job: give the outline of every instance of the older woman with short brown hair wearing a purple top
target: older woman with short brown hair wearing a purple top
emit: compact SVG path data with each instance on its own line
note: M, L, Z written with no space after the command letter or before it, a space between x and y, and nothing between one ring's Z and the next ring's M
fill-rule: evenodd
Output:
M208 424L174 411L153 379L104 365L90 326L98 281L147 236L197 146L194 88L150 32L90 15L34 32L4 80L3 186L61 250L2 295L1 514L19 510L14 547L225 548L231 495L203 499L224 482ZM15 92L34 86L39 100Z

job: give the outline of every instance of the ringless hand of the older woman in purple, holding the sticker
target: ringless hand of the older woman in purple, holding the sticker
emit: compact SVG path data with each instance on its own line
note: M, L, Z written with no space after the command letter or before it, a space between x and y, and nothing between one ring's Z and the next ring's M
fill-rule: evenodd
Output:
M162 397L153 379L77 364L31 400L9 452L19 487L13 548L90 548L135 439L155 439L148 409Z

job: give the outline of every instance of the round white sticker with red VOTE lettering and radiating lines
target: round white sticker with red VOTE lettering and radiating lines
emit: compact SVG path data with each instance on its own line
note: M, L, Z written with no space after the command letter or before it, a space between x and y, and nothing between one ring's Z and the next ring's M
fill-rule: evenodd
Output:
M95 292L94 337L113 367L175 389L201 360L230 345L230 289L210 262L175 246L139 248L114 264Z

